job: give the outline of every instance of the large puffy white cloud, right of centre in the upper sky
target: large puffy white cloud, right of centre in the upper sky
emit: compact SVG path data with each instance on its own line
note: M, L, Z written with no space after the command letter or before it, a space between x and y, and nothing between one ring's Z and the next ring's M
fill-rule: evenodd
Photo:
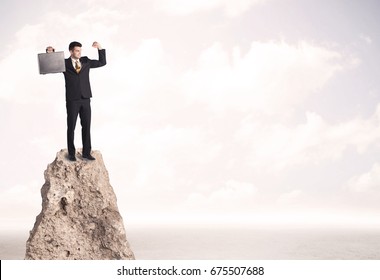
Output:
M238 46L230 53L215 43L181 82L189 100L213 110L283 114L321 89L344 65L338 52L306 42L252 42L245 55Z

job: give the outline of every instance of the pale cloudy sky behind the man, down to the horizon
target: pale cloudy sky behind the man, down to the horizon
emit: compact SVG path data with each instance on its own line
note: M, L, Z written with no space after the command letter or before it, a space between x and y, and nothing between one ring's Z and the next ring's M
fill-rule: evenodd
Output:
M66 148L71 41L126 224L380 226L378 1L1 1L0 221L31 228ZM81 147L80 123L75 143Z

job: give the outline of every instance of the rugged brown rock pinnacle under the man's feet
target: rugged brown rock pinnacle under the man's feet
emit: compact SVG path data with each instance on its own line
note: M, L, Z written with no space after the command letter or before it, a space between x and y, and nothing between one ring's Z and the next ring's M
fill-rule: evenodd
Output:
M134 259L102 155L92 155L72 162L61 150L48 165L25 259Z

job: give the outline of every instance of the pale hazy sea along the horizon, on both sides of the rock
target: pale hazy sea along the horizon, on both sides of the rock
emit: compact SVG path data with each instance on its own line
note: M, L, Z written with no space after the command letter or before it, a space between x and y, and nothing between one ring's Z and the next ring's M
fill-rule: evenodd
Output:
M138 260L380 260L379 228L130 226ZM0 259L22 260L28 230L0 232Z

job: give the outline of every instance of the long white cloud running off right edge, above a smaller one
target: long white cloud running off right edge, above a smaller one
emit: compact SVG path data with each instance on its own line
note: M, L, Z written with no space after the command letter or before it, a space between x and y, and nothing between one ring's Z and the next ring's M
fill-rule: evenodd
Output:
M350 147L364 154L376 148L379 121L380 104L368 119L354 118L337 124L329 124L313 112L306 113L305 123L295 126L260 123L247 117L241 121L235 140L247 149L252 167L281 170L337 161Z

